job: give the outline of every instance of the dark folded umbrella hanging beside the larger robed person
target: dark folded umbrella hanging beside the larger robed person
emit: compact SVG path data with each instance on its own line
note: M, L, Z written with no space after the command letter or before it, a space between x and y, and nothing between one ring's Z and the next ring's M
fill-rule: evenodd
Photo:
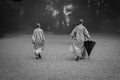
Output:
M96 44L96 42L92 41L92 40L84 41L84 46L85 46L85 48L87 50L88 56L90 56L95 44Z

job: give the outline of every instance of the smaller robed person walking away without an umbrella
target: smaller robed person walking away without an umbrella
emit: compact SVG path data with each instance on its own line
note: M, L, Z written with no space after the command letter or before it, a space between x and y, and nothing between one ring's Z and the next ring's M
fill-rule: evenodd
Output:
M41 25L37 23L37 28L34 30L32 35L32 43L34 44L34 52L37 56L36 59L41 58L41 53L44 49L45 35L43 30L40 28Z

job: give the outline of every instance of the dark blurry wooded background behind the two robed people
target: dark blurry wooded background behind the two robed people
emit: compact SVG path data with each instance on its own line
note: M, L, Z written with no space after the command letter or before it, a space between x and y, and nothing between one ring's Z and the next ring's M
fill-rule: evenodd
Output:
M63 12L56 19L46 9L54 5L59 12L63 6L74 6L70 14L70 25L61 24L56 28L55 21L64 20ZM0 34L18 31L32 33L37 22L44 31L70 33L84 19L84 25L89 32L120 32L120 1L119 0L0 0ZM60 21L61 20L61 21Z

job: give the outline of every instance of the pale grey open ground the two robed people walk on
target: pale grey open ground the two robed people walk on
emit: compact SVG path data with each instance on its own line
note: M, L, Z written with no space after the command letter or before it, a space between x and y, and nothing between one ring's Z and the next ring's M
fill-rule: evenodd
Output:
M35 60L31 35L0 39L0 80L120 80L120 37L92 35L90 60L74 61L67 35L46 34L42 60Z

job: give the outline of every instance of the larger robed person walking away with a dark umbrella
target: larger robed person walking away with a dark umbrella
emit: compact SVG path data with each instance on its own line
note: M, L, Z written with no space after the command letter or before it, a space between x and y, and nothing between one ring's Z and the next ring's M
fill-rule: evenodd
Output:
M77 25L70 34L73 40L70 50L77 55L76 60L85 58L86 49L84 47L84 41L90 39L88 31L82 23L83 19L80 19L80 24Z

